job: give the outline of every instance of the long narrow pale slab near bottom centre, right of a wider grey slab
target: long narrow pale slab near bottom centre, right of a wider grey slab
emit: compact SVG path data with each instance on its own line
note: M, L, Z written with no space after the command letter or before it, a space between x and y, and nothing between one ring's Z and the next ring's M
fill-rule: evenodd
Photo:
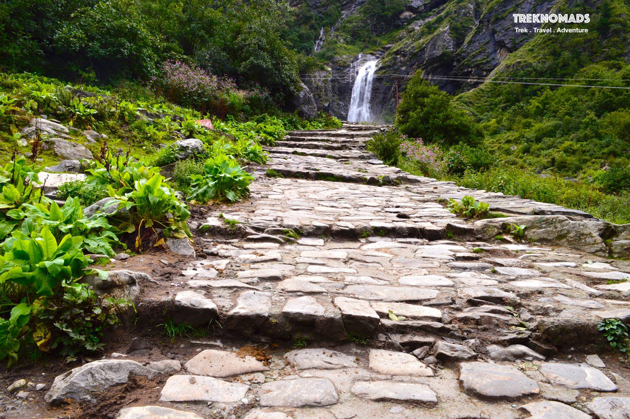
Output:
M425 384L395 381L357 382L352 393L369 400L403 400L420 403L437 403L437 395Z

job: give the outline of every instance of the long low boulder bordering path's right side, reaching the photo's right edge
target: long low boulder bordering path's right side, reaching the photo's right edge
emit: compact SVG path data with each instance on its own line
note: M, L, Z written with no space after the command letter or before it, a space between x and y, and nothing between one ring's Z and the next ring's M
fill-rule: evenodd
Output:
M488 239L504 234L510 224L525 226L525 237L536 243L566 246L600 256L608 256L610 250L617 257L630 256L630 246L624 244L626 241L630 244L630 224L619 226L564 215L530 215L481 220L474 223L474 228L480 238Z

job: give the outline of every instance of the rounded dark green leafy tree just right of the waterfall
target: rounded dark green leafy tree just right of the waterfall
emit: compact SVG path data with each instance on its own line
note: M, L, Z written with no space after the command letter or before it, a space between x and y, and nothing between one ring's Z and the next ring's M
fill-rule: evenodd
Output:
M402 134L426 142L476 144L483 139L473 118L454 105L448 93L425 81L420 71L411 77L396 108L395 125Z

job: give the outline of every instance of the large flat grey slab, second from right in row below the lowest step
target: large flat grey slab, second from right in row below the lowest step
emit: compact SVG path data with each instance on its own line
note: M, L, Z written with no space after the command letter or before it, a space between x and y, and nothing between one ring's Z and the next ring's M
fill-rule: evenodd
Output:
M491 398L518 398L541 391L536 381L527 378L511 365L464 362L460 366L459 381L469 394Z

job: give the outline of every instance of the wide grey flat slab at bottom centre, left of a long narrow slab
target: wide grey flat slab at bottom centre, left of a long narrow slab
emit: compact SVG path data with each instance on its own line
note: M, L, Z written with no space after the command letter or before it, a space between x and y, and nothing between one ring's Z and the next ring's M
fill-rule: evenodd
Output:
M327 378L300 378L266 382L260 386L261 406L328 406L339 400L333 383Z

